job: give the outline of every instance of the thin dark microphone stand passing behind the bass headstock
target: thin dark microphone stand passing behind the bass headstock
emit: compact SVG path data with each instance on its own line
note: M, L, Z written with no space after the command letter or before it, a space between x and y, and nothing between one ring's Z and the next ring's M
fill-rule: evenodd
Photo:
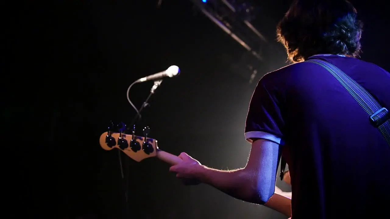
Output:
M142 106L140 109L138 109L138 113L137 115L135 115L135 117L133 118L133 121L131 122L131 127L134 127L135 123L137 122L137 120L140 120L141 119L141 111L142 109L144 109L146 106L149 106L149 99L150 97L152 96L152 94L154 94L154 92L156 91L156 89L161 85L161 82L163 82L163 80L158 80L158 81L154 81L154 85L153 87L151 88L150 90L150 93L148 95L148 97L145 99L145 101L142 103ZM118 157L119 157L119 166L121 168L121 175L122 175L122 180L124 181L124 195L125 195L125 200L126 200L126 218L130 218L130 212L129 212L129 192L128 192L128 187L129 187L129 164L128 162L126 161L129 161L128 159L125 160L126 162L126 171L123 171L123 166L122 166L122 157L121 157L121 151L118 150ZM126 174L124 174L126 173Z

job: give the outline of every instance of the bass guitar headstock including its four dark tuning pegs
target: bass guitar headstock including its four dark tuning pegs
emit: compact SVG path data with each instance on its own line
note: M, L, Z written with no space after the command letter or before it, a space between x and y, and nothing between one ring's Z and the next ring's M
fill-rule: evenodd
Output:
M157 140L147 137L149 127L144 128L144 137L134 135L134 131L132 135L124 134L122 131L119 133L108 131L101 134L99 139L100 146L104 150L118 148L137 162L157 155Z

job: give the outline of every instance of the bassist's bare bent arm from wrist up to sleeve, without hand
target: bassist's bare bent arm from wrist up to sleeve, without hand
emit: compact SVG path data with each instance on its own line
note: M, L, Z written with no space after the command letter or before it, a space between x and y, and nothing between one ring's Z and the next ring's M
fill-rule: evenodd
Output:
M197 178L234 198L264 205L274 194L279 145L256 140L245 168L222 171L200 166Z

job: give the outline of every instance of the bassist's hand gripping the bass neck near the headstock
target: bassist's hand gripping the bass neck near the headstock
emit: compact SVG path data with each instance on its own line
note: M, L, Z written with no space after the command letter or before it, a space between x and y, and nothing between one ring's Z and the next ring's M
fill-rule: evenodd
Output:
M199 184L200 180L198 178L198 173L199 170L202 169L202 164L184 152L182 152L179 157L183 161L171 166L169 171L176 173L176 177L183 180L186 185Z

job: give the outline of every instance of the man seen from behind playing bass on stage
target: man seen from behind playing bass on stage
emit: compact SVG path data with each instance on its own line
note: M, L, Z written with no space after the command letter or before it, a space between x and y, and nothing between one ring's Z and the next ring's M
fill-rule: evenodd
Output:
M390 109L390 74L356 58L361 33L356 10L345 0L294 1L277 27L294 64L266 74L254 91L245 168L214 170L182 153L183 162L170 171L244 201L283 205L278 210L288 215L286 199L274 194L282 154L289 164L293 219L386 215L381 205L390 203L390 147L330 72L303 62L317 58L336 65Z

